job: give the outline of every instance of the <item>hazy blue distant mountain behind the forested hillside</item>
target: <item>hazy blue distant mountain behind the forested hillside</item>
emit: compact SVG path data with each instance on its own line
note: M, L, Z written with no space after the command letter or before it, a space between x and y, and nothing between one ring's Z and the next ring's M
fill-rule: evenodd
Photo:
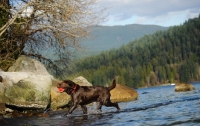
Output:
M93 38L81 42L84 51L79 52L79 56L86 57L89 55L99 54L101 51L119 48L123 44L139 39L144 35L153 34L158 30L167 29L168 27L139 24L94 27L92 28L91 33Z

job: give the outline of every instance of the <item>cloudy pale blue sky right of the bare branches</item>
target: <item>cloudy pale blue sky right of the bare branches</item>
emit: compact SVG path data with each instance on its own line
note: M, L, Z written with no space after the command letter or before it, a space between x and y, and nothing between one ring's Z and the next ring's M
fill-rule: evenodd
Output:
M107 19L101 25L181 25L200 14L200 0L100 0Z

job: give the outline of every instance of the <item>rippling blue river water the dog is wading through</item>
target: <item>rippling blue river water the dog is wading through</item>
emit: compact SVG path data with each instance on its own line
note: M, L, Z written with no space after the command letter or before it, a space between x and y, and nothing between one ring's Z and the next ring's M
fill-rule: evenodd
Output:
M137 89L138 100L119 103L115 108L102 108L97 113L88 106L88 115L77 109L64 117L65 111L50 112L48 117L3 119L5 126L200 126L200 83L194 91L175 92L174 86Z

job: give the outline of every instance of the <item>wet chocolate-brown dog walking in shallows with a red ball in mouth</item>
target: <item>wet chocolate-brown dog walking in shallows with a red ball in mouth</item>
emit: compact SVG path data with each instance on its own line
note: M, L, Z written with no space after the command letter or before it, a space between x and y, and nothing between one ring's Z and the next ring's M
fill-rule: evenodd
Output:
M107 107L116 107L117 110L120 110L117 103L112 103L110 101L110 90L116 87L116 81L113 80L113 83L110 87L102 86L79 86L70 80L64 80L63 82L57 85L57 88L60 92L66 92L71 95L73 106L69 109L68 114L71 114L78 105L81 106L83 114L87 114L86 104L97 102L97 109L101 111L102 105Z

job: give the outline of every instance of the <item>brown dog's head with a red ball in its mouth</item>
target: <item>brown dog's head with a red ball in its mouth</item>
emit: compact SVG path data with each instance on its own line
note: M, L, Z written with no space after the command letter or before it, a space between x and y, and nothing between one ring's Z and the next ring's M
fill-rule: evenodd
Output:
M57 85L58 90L62 92L66 92L71 95L77 88L77 84L70 80L64 80Z

